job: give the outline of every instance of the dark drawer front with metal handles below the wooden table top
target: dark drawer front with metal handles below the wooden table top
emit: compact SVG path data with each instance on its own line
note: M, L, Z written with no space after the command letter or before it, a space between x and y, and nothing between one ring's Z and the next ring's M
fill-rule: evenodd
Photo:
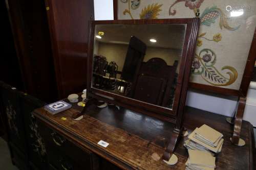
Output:
M56 130L38 122L42 138L46 143L49 165L55 169L99 169L99 158L87 149L75 145Z

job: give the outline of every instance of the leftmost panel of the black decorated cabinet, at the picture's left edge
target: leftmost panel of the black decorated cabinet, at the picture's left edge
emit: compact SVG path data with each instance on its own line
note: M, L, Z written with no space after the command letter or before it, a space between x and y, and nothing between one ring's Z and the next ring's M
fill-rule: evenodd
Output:
M11 86L1 83L1 106L7 125L8 145L12 161L20 168L26 169L26 139L23 124L23 112L20 109L18 92Z

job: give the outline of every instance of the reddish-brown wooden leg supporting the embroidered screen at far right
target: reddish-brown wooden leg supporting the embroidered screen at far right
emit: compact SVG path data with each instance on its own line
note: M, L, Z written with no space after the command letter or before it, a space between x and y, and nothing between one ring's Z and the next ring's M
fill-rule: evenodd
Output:
M233 136L231 140L233 144L239 143L245 104L246 104L246 98L239 97L238 110L236 114L236 119L234 120L234 131L233 131Z

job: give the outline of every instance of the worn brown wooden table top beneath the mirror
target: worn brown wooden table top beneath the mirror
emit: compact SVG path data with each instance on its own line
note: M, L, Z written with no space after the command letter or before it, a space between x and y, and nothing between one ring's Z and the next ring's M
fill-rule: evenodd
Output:
M164 147L170 138L174 124L114 106L103 109L90 108L83 119L71 118L77 106L52 115L38 108L34 115L72 142L87 148L123 169L185 169L188 154L183 147L186 137L179 141L175 151L178 157L176 165L167 165L162 159L153 159L152 155L163 155ZM66 117L62 120L61 117ZM226 123L225 116L187 107L184 114L184 126L189 132L206 124L224 135L221 153L217 155L216 169L253 169L252 145L253 129L250 123L243 122L242 135L244 147L233 145L229 138L232 126ZM100 140L108 143L103 148L97 144Z

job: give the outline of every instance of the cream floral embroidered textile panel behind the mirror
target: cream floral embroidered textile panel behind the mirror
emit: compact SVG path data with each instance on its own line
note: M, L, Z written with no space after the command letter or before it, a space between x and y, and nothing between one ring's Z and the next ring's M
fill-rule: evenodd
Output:
M256 26L255 0L118 0L118 19L191 18L197 9L190 82L238 90Z

